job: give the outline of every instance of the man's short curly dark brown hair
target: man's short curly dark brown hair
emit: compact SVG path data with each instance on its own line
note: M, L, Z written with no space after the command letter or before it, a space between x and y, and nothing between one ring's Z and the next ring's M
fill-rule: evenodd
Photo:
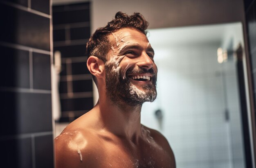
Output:
M104 63L107 61L107 54L111 48L111 43L108 39L110 33L114 33L121 28L134 28L144 35L147 34L148 22L140 13L133 13L133 15L127 15L126 13L117 12L115 19L108 22L105 27L98 28L94 34L90 37L86 44L86 53L90 57L94 55L98 57ZM92 75L92 79L97 85L96 77Z

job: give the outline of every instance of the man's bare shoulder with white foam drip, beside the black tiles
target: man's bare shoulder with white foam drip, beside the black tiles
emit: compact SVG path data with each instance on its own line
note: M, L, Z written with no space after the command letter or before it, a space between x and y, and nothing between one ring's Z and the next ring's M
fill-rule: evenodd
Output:
M101 142L90 129L67 127L54 142L56 168L91 168L95 164L95 156L101 151Z

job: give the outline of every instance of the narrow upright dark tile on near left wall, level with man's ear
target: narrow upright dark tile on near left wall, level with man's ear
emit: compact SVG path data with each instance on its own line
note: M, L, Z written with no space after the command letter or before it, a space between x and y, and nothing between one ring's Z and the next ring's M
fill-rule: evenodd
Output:
M33 53L34 89L51 90L50 55Z

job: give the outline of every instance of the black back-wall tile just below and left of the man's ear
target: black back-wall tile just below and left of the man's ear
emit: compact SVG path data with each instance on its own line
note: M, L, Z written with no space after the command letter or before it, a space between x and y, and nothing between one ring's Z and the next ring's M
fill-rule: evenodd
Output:
M73 81L73 92L92 92L92 80Z

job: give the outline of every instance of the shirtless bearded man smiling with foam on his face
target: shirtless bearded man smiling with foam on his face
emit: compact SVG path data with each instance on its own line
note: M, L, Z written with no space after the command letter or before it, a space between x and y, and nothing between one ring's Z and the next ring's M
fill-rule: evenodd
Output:
M141 14L118 12L90 37L87 67L99 100L56 137L56 168L175 168L165 137L140 123L142 104L157 95L147 27Z

